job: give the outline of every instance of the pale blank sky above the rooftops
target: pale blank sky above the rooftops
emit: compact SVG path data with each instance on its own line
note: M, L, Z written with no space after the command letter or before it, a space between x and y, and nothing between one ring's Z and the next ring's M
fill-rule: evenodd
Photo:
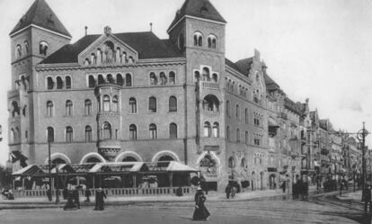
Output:
M88 32L153 31L162 39L184 0L47 0L73 36ZM252 57L293 101L310 98L310 108L336 129L355 132L366 121L372 130L371 0L210 0L228 22L226 58ZM9 32L33 0L0 0L0 164L7 159L7 90L11 86ZM372 137L368 137L371 147Z

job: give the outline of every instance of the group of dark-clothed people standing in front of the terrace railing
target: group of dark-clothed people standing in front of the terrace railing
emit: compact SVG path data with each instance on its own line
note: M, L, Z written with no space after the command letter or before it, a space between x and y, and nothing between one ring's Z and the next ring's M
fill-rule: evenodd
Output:
M80 195L79 195L79 186L71 186L69 189L65 189L63 191L63 197L67 200L66 205L64 206L64 210L76 210L80 209ZM84 202L91 202L90 196L92 195L89 189L84 190L86 200ZM104 210L104 199L106 198L106 193L99 188L98 191L95 192L95 207L94 210L102 211Z

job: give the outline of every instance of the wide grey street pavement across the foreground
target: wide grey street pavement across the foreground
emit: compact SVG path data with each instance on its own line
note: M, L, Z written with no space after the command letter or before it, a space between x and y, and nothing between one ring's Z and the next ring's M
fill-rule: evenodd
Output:
M370 218L363 211L344 206L336 195L314 195L308 201L294 201L288 195L246 201L208 200L206 206L211 217L203 223L370 223ZM193 210L193 202L135 202L108 206L105 211L93 211L93 207L83 207L76 211L63 211L60 208L3 210L0 211L0 223L199 223L190 219Z

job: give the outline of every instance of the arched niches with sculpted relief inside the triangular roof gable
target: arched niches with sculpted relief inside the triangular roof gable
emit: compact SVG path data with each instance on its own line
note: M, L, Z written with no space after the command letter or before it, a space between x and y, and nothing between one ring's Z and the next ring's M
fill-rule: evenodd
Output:
M98 48L84 58L84 66L102 64L131 65L136 62L135 58L135 55L129 55L127 51L121 50L120 47L115 48L111 41L106 41L102 48Z

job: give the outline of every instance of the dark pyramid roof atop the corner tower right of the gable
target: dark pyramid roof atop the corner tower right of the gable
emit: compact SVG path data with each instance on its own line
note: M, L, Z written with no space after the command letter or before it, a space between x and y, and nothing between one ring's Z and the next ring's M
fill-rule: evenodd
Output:
M213 20L217 22L226 22L213 4L208 0L186 0L180 10L177 11L173 22L168 28L171 29L183 16L190 15L202 19Z

